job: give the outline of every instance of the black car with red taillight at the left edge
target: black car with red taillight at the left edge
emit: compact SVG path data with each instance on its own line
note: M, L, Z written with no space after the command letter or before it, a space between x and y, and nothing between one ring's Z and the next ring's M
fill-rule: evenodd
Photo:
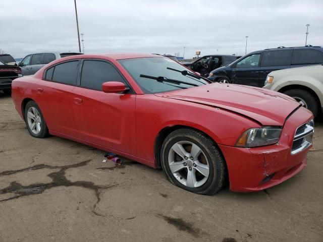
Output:
M7 65L0 61L0 90L5 94L10 94L11 83L14 79L22 77L21 68Z

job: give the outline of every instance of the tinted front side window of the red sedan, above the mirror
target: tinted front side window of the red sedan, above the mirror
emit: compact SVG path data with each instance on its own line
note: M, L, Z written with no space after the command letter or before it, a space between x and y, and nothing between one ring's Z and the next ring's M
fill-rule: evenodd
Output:
M104 82L124 82L113 65L101 61L84 61L81 87L102 90Z

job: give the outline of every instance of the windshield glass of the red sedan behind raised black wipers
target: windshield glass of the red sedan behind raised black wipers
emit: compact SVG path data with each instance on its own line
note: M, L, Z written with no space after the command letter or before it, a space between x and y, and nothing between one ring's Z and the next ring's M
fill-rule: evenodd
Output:
M178 71L189 70L177 62L167 57L144 57L144 58L132 58L132 59L121 59L119 63L128 71L132 78L138 83L144 93L159 93L169 92L183 88L192 88L194 86L201 86L208 84L203 79L198 79L188 75L183 75ZM176 69L173 71L167 68ZM193 85L184 83L169 83L161 82L140 75L152 76L152 77L164 77L167 79L178 80L180 82L188 82Z

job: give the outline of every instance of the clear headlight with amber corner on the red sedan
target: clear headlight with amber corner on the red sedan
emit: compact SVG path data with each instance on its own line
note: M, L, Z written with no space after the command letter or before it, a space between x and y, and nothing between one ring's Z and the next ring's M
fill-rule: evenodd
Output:
M237 147L257 147L278 142L282 129L276 127L253 128L245 131L237 140Z

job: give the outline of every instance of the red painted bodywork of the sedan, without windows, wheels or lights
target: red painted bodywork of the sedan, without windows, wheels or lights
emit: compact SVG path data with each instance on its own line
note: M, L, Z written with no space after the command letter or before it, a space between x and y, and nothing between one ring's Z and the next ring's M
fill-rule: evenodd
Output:
M59 59L34 76L16 79L12 97L21 116L25 98L34 100L49 133L157 167L156 139L165 128L186 126L204 132L221 149L234 191L258 191L290 178L306 165L308 149L291 156L297 127L312 118L290 97L260 88L214 83L167 93L144 94L117 62L149 54L88 54ZM42 80L43 71L67 59L101 58L113 63L136 94L104 93ZM112 86L110 86L112 85ZM109 84L109 88L123 88ZM108 88L108 89L109 89ZM39 90L42 90L39 92ZM240 135L262 125L282 126L278 144L234 147ZM271 181L259 184L266 174Z

